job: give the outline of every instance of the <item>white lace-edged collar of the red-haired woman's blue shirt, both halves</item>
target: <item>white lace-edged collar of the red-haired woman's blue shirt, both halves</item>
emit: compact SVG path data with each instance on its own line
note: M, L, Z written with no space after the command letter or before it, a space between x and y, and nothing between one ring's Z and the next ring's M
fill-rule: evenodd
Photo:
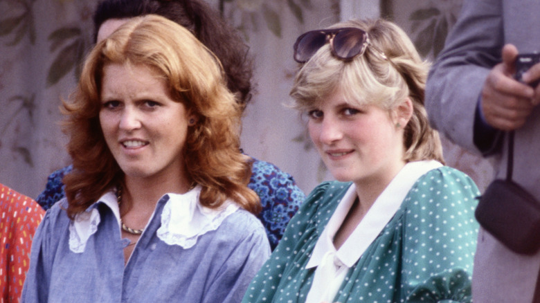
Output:
M199 203L201 188L200 185L197 185L185 194L165 194L163 196L167 196L168 201L161 211L161 226L156 232L161 241L168 245L191 248L197 243L199 236L217 230L224 219L239 208L236 203L230 200L217 209L202 206ZM118 229L120 229L118 201L114 190L110 190L85 212L78 214L75 220L69 224L69 249L71 251L84 252L88 239L98 230L101 221L97 208L99 203L107 205L112 210L118 221ZM154 216L155 213L152 214L150 221Z

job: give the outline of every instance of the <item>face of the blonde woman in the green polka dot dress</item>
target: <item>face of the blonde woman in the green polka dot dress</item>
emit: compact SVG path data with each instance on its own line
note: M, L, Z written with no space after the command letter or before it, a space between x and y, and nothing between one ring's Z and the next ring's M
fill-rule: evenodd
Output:
M388 111L334 93L309 110L309 136L338 181L388 181L404 165L403 130Z

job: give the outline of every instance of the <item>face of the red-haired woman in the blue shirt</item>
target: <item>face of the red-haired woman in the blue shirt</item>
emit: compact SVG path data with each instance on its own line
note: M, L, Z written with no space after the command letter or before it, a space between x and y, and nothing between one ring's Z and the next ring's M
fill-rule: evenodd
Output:
M177 178L185 172L182 151L195 117L170 98L154 69L107 64L103 71L100 125L120 169L133 178Z

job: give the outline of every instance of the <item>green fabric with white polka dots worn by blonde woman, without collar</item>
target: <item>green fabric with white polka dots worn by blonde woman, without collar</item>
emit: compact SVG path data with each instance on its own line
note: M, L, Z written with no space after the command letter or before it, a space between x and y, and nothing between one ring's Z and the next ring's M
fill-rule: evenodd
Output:
M242 302L305 302L314 276L314 268L305 266L349 186L330 182L316 187ZM424 174L349 270L333 302L471 302L479 194L456 169Z

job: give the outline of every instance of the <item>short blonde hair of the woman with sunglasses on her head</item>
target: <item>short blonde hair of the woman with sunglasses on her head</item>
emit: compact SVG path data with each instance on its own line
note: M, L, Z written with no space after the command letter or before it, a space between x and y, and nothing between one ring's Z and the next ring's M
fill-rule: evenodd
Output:
M429 125L424 108L429 64L420 58L411 39L384 19L350 20L330 26L345 27L368 33L370 44L365 53L343 61L332 55L330 44L319 48L296 74L290 93L293 107L305 111L340 91L352 104L374 104L392 113L397 104L411 98L413 116L404 129L404 160L444 163L439 134Z

